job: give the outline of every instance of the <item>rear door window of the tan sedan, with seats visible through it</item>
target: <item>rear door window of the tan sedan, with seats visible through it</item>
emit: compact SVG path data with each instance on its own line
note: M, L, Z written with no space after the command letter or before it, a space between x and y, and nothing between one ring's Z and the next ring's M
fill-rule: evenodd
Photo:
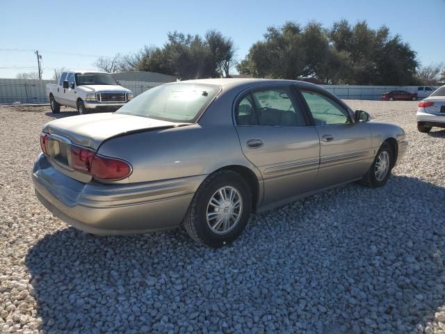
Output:
M278 127L304 127L306 125L302 111L293 101L289 88L254 90L250 96L251 103L257 111L259 125Z

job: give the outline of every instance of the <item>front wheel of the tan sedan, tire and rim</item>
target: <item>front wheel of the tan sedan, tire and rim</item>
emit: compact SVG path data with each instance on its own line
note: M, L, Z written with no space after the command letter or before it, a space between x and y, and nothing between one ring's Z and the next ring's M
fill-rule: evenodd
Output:
M391 145L385 141L380 146L368 173L360 180L360 184L369 186L369 188L384 186L389 179L389 175L391 175L391 169L394 167L394 159Z

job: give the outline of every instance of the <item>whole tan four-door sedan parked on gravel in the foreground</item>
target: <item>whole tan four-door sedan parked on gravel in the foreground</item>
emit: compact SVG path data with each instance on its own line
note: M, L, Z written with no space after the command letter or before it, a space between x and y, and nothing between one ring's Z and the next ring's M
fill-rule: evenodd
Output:
M150 232L183 221L195 241L223 246L252 211L348 182L385 184L405 132L368 120L301 81L164 84L115 113L47 123L33 182L49 211L81 230Z

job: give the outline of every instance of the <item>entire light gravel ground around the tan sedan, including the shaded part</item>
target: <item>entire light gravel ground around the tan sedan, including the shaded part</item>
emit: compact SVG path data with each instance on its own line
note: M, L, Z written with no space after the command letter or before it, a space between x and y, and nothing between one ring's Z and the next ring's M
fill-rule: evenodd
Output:
M445 333L445 130L417 132L416 102L349 103L407 132L387 185L259 214L218 250L67 227L31 183L49 107L0 107L1 331Z

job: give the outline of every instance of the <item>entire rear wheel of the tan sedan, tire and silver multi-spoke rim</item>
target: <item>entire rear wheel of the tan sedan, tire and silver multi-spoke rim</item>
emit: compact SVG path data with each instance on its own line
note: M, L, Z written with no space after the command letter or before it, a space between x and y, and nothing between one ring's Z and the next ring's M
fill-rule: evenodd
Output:
M243 232L251 209L252 193L243 177L221 170L197 189L184 217L184 228L200 244L225 246Z

